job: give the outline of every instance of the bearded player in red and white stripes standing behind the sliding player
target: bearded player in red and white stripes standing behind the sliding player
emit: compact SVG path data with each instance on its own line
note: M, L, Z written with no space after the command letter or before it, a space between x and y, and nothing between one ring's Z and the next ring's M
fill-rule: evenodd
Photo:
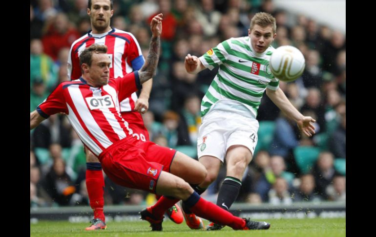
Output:
M113 15L112 0L89 0L87 14L90 16L91 31L76 40L68 57L68 76L71 80L77 80L81 76L79 56L90 45L104 44L107 46L107 55L111 65L110 78L123 77L127 73L139 70L145 63L140 45L136 38L129 32L110 27L110 18ZM124 100L119 101L123 118L130 124L132 135L141 141L148 141L149 134L144 125L141 113L148 109L148 98L151 91L152 80L143 85L140 97L133 92ZM85 148L86 152L86 187L90 200L90 207L94 211L94 221L86 230L106 228L104 216L104 177L98 158ZM92 221L93 222L93 221Z

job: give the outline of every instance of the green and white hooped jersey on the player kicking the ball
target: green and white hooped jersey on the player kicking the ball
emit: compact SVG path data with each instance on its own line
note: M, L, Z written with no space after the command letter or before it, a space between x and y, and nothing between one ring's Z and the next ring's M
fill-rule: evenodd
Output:
M264 53L256 53L247 36L230 38L201 56L201 63L210 70L219 65L202 99L201 117L219 109L256 118L266 88L276 90L279 86L269 67L274 50L270 46Z

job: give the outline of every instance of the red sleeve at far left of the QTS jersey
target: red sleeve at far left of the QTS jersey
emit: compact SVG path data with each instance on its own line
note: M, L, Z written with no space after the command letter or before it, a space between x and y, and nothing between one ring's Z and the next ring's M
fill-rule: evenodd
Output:
M50 115L64 112L68 114L64 95L63 84L60 84L38 107L37 112L43 117L48 118Z

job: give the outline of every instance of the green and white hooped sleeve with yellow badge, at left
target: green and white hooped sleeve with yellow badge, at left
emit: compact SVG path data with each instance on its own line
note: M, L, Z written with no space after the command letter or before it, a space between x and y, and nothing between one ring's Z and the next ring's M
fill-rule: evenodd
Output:
M219 43L216 47L210 48L208 52L199 58L201 63L210 70L225 63L229 57L229 52L232 50L228 41L229 40L224 41Z

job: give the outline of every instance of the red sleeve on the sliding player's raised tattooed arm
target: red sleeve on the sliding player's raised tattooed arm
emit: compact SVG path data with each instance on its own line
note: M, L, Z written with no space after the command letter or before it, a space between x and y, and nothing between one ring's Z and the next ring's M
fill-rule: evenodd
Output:
M125 100L133 92L136 92L137 90L142 88L140 78L138 76L138 71L125 74L124 77L115 79L114 83L116 83L118 87L119 101Z

